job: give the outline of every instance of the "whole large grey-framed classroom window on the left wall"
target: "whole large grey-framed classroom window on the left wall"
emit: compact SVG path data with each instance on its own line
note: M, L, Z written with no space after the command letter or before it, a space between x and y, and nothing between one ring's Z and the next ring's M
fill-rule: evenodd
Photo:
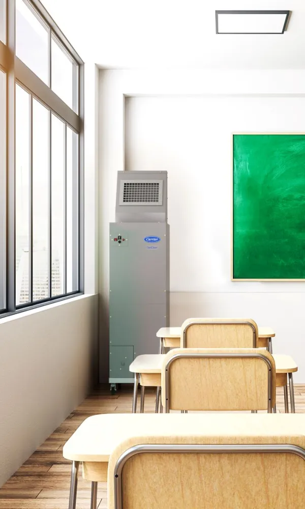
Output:
M5 40L0 318L83 292L83 62L38 0L0 0Z

